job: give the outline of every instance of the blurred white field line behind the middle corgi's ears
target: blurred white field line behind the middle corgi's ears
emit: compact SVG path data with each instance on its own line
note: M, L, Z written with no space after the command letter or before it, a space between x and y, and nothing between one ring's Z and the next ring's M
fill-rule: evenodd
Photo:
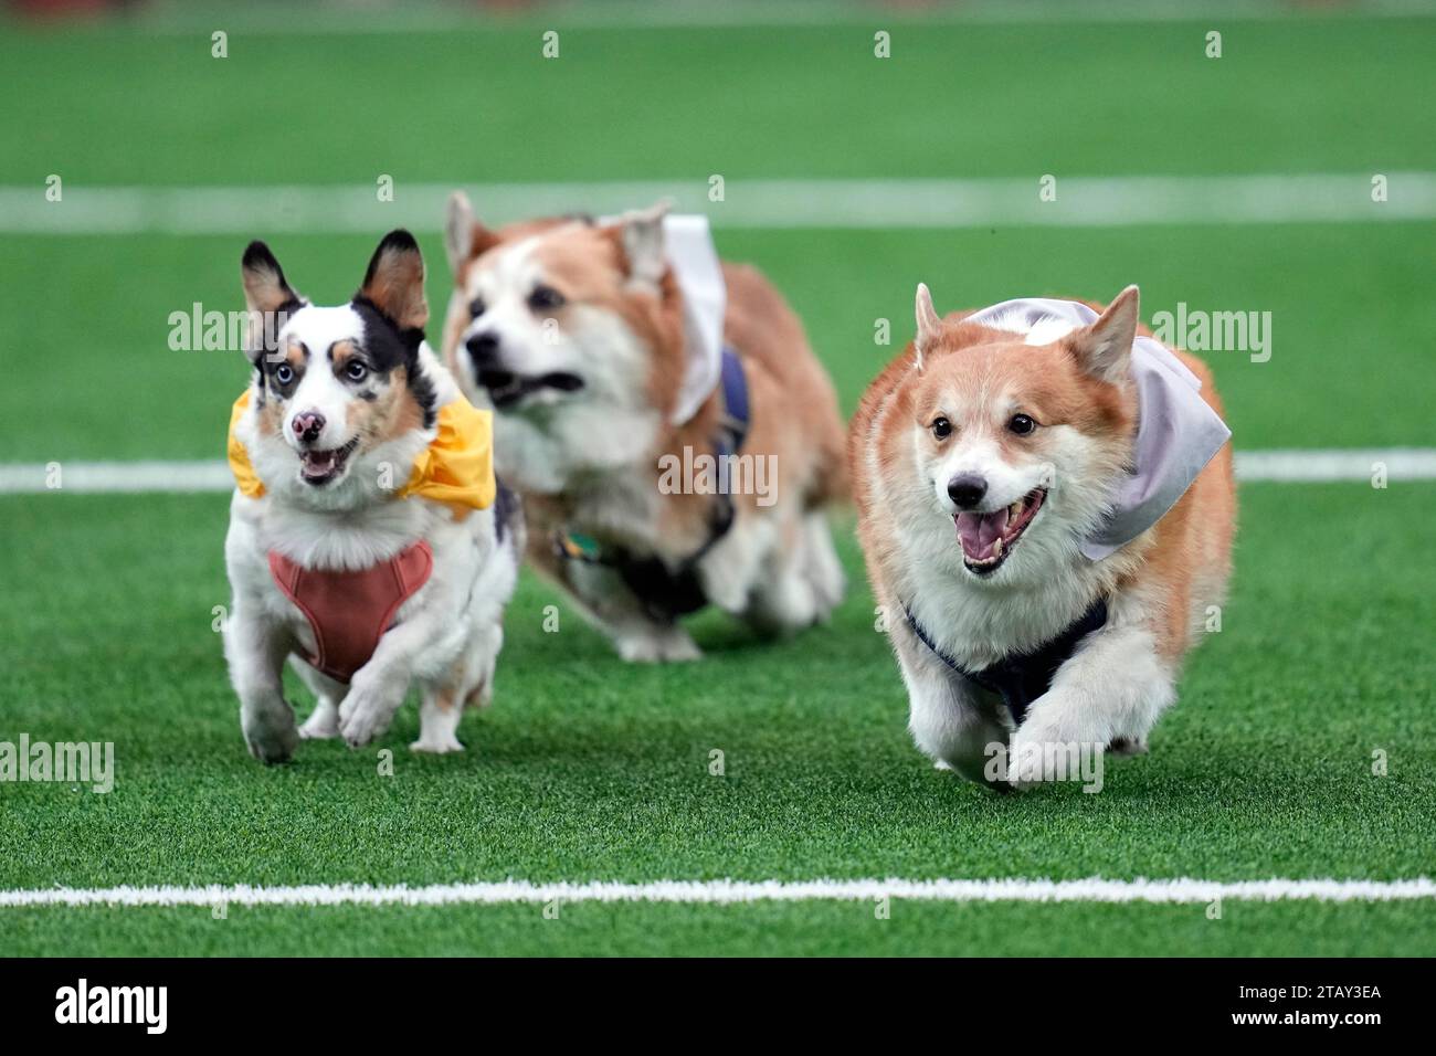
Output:
M0 187L6 234L369 234L393 227L437 233L448 195L464 187L485 221L622 213L661 198L705 213L715 227L972 228L1295 224L1436 220L1436 172L1391 171L1387 200L1371 201L1374 172L1127 175L1057 178L1041 201L1031 177L981 180L732 180L708 200L708 175L669 181L405 184L393 201L376 185L90 187L67 181Z

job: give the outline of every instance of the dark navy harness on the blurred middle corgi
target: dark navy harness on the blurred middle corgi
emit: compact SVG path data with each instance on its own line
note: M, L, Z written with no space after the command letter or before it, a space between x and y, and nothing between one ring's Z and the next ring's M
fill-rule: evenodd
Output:
M742 361L731 348L722 351L718 391L722 394L722 420L714 437L714 455L722 460L742 448L750 422L748 378ZM708 539L678 565L669 565L653 555L636 555L622 546L600 549L593 539L564 529L554 534L554 549L563 560L613 569L652 619L671 624L708 603L698 565L728 534L734 522L732 496L719 491L717 500L708 520Z

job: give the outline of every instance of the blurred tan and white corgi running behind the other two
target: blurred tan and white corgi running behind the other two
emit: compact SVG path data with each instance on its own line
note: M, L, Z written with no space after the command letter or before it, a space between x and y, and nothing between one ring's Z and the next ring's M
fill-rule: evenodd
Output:
M727 351L705 378L665 230L659 207L491 231L462 194L445 227L445 362L494 407L531 560L630 661L698 657L679 616L704 605L783 634L843 592L833 385L778 292L711 250Z

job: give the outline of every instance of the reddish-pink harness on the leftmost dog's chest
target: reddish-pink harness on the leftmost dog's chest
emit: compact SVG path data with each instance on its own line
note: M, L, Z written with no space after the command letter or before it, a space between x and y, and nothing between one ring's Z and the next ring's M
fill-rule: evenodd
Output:
M424 540L359 572L300 568L274 550L270 575L299 606L314 632L309 662L348 684L369 662L393 613L424 586L434 570L434 550Z

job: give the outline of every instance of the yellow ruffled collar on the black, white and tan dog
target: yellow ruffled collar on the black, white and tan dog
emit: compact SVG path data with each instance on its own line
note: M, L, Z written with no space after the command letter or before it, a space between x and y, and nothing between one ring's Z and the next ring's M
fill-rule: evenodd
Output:
M237 435L251 397L253 389L246 389L230 411L228 457L240 493L258 499L264 494L264 481ZM434 440L414 460L408 483L393 496L444 503L462 520L470 510L482 510L494 501L494 415L458 397L439 408L437 425Z

